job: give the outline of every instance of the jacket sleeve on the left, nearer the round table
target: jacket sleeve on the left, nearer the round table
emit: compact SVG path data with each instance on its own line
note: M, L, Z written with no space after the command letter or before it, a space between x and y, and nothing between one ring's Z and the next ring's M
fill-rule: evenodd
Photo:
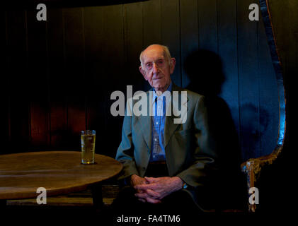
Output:
M122 173L118 179L125 179L126 177L130 177L132 174L139 175L134 160L134 145L132 143L132 116L127 115L127 110L125 111L125 117L122 126L122 141L117 150L115 159L121 162L123 165Z

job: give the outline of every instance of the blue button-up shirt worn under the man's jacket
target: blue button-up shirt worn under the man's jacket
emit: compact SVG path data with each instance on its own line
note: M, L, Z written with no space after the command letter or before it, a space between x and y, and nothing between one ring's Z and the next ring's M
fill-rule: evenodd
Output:
M167 91L169 92L164 92L158 96L154 90L152 97L152 111L154 111L154 114L151 117L152 141L150 162L166 160L164 125L166 123L166 107L168 107L168 102L171 101L172 83L168 86Z

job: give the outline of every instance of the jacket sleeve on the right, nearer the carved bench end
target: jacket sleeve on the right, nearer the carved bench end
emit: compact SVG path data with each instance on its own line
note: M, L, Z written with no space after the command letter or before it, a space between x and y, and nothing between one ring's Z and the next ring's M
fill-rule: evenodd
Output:
M217 145L213 141L212 126L208 119L205 97L198 98L193 114L195 151L193 161L186 169L176 176L195 188L205 186L217 172Z

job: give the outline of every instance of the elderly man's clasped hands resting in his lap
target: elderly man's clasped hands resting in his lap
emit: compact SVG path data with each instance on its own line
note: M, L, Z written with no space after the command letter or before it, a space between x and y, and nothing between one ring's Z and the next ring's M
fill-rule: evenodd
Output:
M130 184L137 190L135 196L144 203L161 203L161 199L182 189L180 177L130 177Z

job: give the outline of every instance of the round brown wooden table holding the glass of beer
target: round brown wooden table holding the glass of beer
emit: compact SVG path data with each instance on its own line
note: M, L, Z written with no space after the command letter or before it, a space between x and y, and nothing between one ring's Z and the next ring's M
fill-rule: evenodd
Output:
M121 170L120 162L98 154L95 164L82 165L78 151L0 155L0 200L35 198L40 187L46 189L47 196L91 188L96 191L93 204L94 201L101 204L101 186L98 185Z

